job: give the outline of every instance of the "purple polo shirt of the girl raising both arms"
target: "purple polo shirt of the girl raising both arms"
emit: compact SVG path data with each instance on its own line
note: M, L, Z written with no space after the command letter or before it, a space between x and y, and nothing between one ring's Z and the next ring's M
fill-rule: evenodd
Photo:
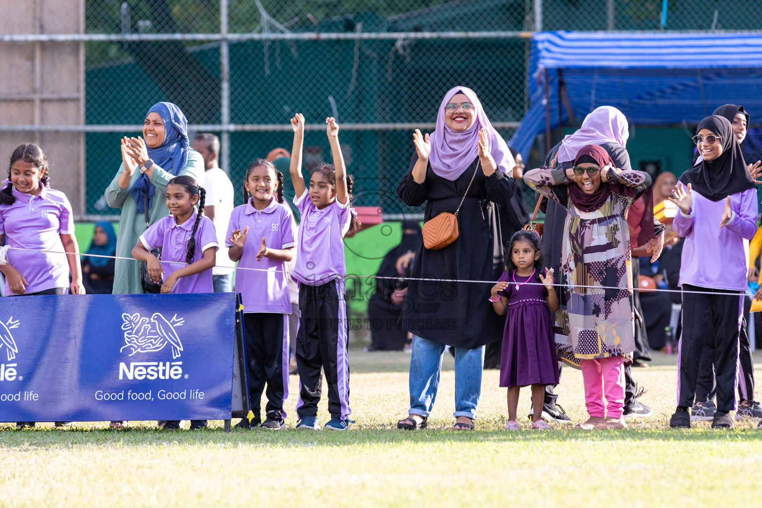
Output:
M302 214L299 224L299 247L293 276L300 283L320 286L347 273L344 262L344 235L349 231L352 210L349 200L338 200L319 210L309 199L309 190L294 197Z

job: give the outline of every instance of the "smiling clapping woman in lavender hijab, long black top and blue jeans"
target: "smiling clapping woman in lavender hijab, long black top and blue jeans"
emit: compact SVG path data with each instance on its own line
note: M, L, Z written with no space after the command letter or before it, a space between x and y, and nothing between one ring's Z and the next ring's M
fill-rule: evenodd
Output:
M456 430L472 430L482 391L484 346L501 337L504 321L488 305L488 283L504 270L500 221L495 203L514 192L514 158L491 126L474 91L456 87L445 94L437 129L429 136L416 129L415 153L397 187L408 206L426 203L424 221L459 203L459 238L439 250L418 243L402 325L413 334L409 417L401 429L420 429L437 398L446 345L455 347ZM472 182L472 183L471 183ZM463 199L463 196L466 196ZM418 278L442 281L420 281Z

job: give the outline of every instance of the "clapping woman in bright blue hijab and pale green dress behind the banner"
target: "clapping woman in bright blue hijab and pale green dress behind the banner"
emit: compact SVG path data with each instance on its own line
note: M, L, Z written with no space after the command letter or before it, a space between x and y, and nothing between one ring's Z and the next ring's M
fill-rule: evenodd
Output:
M168 182L181 174L203 185L203 158L191 149L187 120L179 107L159 102L146 114L142 137L121 140L122 165L107 187L108 206L122 209L117 235L117 256L130 252L146 231L148 223L168 215L165 193ZM114 267L114 294L142 293L140 264L117 259Z

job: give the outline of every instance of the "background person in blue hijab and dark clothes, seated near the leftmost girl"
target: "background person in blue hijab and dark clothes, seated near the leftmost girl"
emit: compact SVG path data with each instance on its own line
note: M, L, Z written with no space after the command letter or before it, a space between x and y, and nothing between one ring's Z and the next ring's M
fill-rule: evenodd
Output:
M117 235L108 221L95 222L93 238L85 254L80 256L85 290L88 295L110 295L114 289L114 256L117 253Z

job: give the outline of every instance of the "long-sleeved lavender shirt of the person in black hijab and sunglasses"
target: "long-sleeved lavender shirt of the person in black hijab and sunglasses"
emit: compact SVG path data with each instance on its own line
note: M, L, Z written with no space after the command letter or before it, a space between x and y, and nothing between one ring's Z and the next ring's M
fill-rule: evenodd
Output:
M732 217L719 227L725 200L691 193L690 215L677 209L672 227L685 238L680 264L680 286L745 291L749 267L749 240L757 232L757 189L730 196Z

